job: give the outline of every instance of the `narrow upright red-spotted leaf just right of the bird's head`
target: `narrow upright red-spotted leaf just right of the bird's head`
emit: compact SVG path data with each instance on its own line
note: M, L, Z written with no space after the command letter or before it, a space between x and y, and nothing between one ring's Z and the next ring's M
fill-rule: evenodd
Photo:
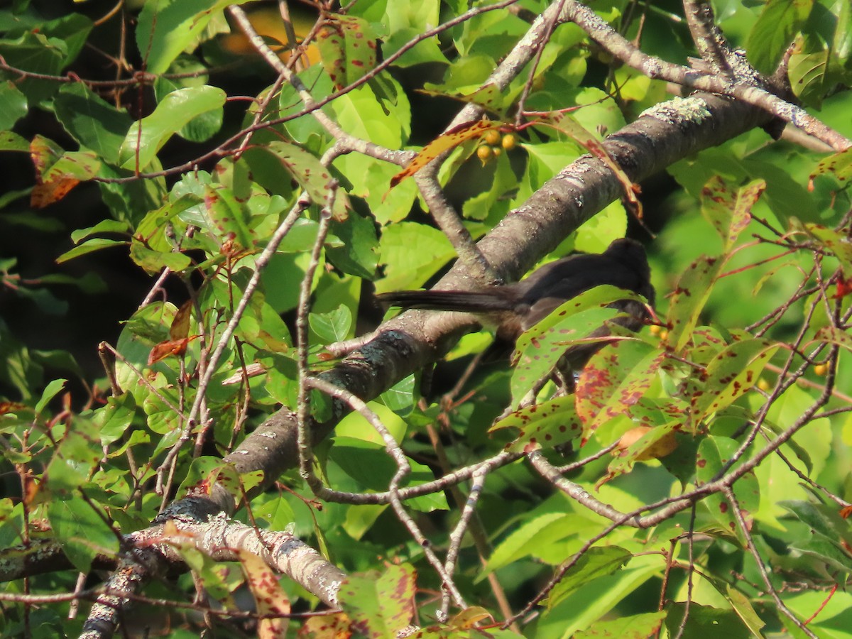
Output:
M700 256L677 280L669 302L669 314L666 317L669 332L665 338L666 344L675 352L681 351L692 338L699 314L710 297L723 265L724 260L720 257Z

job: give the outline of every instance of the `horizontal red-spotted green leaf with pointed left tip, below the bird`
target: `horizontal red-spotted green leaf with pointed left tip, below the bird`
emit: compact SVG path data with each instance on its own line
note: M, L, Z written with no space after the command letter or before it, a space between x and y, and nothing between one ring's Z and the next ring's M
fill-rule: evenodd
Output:
M571 395L512 412L495 423L490 432L508 428L521 431L517 439L506 446L506 450L515 452L530 452L543 446L553 448L577 439L583 432Z

